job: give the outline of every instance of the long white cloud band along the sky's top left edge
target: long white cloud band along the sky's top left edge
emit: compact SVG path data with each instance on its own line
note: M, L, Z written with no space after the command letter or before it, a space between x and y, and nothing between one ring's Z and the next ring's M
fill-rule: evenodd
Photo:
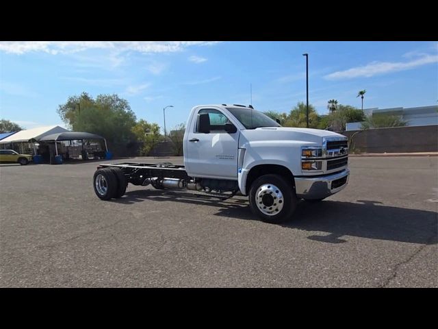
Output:
M74 53L86 49L116 49L140 53L181 51L192 46L216 45L216 41L1 41L0 51L22 54L29 51Z

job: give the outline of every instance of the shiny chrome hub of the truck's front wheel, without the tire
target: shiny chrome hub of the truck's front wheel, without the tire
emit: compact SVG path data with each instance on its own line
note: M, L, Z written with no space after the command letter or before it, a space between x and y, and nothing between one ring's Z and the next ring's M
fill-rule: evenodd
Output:
M280 188L273 184L263 184L257 188L255 202L263 214L274 216L281 212L285 200Z

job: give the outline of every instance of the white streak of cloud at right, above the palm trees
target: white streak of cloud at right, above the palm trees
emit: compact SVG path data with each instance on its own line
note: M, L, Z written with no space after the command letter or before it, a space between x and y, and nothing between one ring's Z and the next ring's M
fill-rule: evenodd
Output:
M412 57L414 54L408 53L407 56ZM418 56L418 54L415 54ZM325 75L327 80L351 79L353 77L372 77L374 75L382 75L385 73L393 73L414 69L417 66L422 66L438 62L438 55L421 54L409 62L371 62L365 66L357 66L344 71L337 71Z

